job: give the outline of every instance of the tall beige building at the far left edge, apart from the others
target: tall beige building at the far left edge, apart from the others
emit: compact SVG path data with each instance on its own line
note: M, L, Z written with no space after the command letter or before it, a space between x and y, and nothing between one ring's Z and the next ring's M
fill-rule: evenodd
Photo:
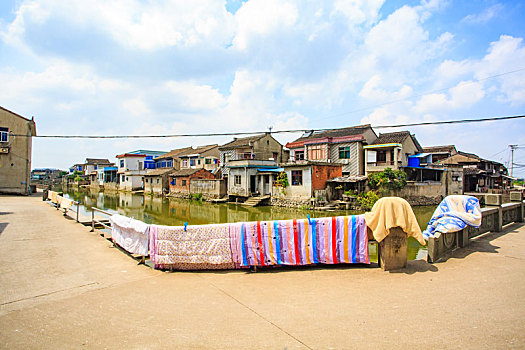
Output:
M29 194L33 119L0 107L0 192Z

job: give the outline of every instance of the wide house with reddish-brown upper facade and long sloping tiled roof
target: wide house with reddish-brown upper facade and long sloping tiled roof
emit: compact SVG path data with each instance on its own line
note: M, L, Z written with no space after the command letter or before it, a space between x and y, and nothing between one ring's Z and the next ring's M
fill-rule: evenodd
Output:
M286 144L290 161L316 161L342 166L343 175L362 175L365 171L363 146L377 139L370 125L315 131Z

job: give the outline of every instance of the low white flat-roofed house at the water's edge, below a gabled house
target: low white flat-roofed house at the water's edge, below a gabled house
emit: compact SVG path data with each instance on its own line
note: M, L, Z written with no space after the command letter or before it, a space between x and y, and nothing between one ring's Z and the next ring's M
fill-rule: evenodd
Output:
M230 160L226 168L230 200L271 195L273 182L284 170L276 161L257 159Z

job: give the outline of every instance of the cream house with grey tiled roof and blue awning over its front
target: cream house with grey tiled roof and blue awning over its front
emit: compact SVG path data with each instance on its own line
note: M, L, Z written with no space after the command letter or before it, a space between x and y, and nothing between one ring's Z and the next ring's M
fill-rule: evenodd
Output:
M423 147L408 131L381 133L365 149L365 174L380 172L386 168L400 170L408 166L409 156L420 154Z

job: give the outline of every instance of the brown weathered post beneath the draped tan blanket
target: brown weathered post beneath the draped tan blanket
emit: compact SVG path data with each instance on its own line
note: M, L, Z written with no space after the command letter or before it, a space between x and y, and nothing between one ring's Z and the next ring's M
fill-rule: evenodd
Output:
M407 267L407 234L400 228L390 229L390 234L379 243L378 262L383 271Z

